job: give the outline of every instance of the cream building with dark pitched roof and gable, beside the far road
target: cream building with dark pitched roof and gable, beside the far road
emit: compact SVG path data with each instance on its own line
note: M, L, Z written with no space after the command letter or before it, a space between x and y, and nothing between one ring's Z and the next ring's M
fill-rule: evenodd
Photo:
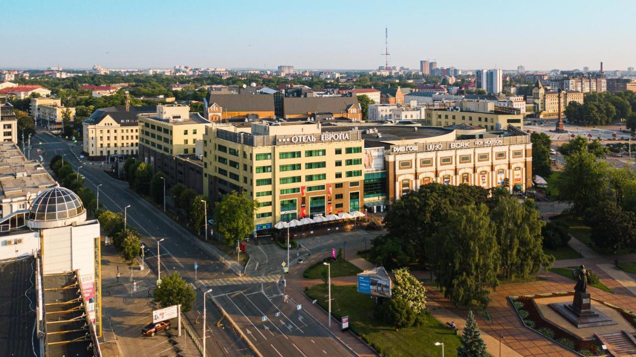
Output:
M97 109L82 123L83 154L89 160L104 160L111 155L136 156L139 151L137 115L155 111L154 106Z

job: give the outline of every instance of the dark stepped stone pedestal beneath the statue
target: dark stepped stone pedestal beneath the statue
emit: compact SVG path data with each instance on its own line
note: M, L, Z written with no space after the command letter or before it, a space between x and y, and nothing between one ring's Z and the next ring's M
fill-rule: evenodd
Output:
M575 292L572 304L561 302L548 304L548 306L577 328L617 324L616 321L591 306L589 293Z

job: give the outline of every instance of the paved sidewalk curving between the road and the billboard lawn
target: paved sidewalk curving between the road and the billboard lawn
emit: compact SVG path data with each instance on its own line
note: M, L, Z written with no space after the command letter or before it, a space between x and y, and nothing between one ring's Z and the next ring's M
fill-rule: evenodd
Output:
M314 319L322 325L322 327L326 328L331 332L340 342L349 347L357 356L378 356L378 354L369 347L363 340L359 339L353 332L350 331L341 331L340 330L340 321L336 321L333 319L331 321L331 328L328 325L328 316L327 314L318 306L315 306L311 303L310 300L307 299L305 294L303 293L305 283L310 280L303 280L303 271L305 268L314 262L317 262L324 257L327 257L329 254L321 254L321 255L313 255L307 262L303 263L301 266L296 267L296 269L291 269L289 274L287 275L287 294L289 297L297 302L298 304L303 305L303 310L305 310L308 314L312 315ZM349 277L354 278L354 277ZM340 278L338 279L340 280ZM318 281L314 281L317 283ZM335 283L335 279L332 280ZM314 283L314 285L315 285ZM322 283L322 281L319 281Z

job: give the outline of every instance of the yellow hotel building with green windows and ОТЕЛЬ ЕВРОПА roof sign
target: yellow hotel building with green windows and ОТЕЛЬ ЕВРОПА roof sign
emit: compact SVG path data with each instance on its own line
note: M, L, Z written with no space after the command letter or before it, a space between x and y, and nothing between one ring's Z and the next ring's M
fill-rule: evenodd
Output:
M204 135L204 192L246 192L256 229L281 220L352 212L364 205L361 131L320 123L214 126Z

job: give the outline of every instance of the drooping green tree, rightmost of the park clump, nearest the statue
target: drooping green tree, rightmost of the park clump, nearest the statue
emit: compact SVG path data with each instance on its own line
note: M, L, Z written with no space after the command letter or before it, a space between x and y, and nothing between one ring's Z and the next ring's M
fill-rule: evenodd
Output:
M541 228L545 223L532 199L520 205L514 197L500 198L490 213L490 219L496 229L504 277L527 278L536 274L542 266L551 266L554 257L543 253Z

